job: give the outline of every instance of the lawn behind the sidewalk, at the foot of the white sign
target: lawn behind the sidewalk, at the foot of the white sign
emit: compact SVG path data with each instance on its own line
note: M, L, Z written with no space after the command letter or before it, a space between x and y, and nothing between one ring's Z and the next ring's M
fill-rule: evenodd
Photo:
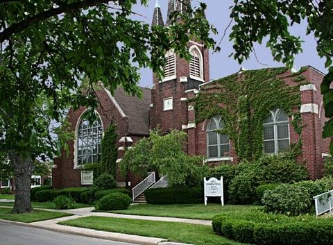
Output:
M177 204L177 205L130 205L128 210L112 211L118 214L148 215L160 217L177 217L187 219L212 219L221 212L225 214L234 214L235 212L249 212L260 209L253 205L225 205L210 203L207 206L203 204Z

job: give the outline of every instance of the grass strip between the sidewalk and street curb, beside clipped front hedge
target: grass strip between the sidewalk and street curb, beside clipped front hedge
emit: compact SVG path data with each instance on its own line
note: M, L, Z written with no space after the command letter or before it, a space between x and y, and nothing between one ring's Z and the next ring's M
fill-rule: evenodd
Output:
M240 244L215 235L211 226L138 219L116 219L108 217L85 217L60 222L66 226L105 230L115 233L160 237L172 242L196 245Z

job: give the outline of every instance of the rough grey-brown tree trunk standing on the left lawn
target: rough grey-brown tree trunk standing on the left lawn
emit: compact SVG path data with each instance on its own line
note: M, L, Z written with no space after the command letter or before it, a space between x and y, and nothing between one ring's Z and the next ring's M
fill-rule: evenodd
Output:
M14 167L15 176L15 203L12 213L31 212L33 211L30 198L31 174L33 174L31 158L23 158L21 154L17 153L10 153L9 158Z

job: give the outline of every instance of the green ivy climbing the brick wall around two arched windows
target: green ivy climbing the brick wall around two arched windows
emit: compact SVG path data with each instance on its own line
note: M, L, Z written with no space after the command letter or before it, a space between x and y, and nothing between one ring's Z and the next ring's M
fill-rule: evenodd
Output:
M298 135L302 133L300 85L309 83L302 73L290 74L285 67L243 71L212 81L200 87L194 101L196 122L215 115L223 118L223 129L234 142L239 160L255 160L263 154L263 121L271 110L280 108L291 116L291 125ZM292 85L287 84L287 80ZM302 139L291 144L289 155L301 153Z

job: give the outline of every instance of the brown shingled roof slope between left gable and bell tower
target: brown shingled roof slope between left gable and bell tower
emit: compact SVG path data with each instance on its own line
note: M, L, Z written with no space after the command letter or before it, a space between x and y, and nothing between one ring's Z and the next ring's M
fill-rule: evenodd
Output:
M142 99L133 97L122 89L114 91L114 99L117 101L123 113L128 117L128 133L130 135L149 135L149 108L151 105L151 89L140 87Z

